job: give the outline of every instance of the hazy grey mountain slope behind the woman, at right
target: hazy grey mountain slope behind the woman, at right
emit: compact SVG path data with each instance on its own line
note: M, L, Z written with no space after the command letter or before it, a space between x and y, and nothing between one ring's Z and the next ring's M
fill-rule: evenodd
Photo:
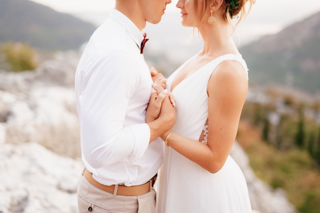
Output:
M253 85L320 91L320 12L239 50Z

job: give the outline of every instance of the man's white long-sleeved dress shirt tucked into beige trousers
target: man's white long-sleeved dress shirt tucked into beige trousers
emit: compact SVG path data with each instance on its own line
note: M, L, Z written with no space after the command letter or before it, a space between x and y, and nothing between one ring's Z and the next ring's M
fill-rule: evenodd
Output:
M75 77L82 160L104 185L140 185L162 164L162 141L149 145L146 108L152 79L140 54L143 35L113 9L90 38Z

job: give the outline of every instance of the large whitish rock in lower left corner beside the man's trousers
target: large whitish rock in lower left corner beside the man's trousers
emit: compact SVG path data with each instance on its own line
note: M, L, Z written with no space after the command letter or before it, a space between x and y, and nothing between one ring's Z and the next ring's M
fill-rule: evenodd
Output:
M0 162L0 212L78 211L81 161L28 143L2 145Z

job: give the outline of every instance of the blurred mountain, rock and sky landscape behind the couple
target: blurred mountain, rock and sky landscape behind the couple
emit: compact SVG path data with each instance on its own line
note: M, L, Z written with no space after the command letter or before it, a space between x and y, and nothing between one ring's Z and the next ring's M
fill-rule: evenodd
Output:
M168 77L201 50L177 0L147 23ZM114 0L0 0L0 212L78 212L74 74ZM231 155L256 212L320 212L320 2L257 0L233 35L249 92Z

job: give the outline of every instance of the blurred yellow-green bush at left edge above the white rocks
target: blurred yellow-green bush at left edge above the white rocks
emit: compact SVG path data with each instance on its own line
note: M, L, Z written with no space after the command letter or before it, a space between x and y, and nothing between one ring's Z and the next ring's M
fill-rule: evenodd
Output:
M1 52L12 72L34 70L37 67L36 53L27 44L7 42L2 45Z

